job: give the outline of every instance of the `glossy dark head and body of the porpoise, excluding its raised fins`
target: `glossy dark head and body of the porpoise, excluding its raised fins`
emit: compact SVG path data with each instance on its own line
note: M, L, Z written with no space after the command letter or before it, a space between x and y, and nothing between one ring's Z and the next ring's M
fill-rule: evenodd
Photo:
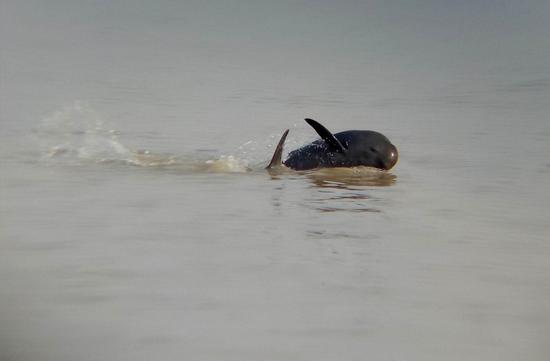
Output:
M397 163L397 148L378 132L348 130L334 136L347 148L345 152L331 151L319 139L290 152L283 164L295 170L357 166L388 170Z

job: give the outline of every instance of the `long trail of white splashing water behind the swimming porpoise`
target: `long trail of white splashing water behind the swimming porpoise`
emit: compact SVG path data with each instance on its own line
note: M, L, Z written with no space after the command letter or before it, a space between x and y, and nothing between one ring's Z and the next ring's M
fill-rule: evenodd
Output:
M122 143L117 130L107 126L107 122L82 101L44 118L35 136L42 158L47 161L118 163L191 172L242 173L251 170L247 159L234 155L204 160L194 154L176 156L131 149Z

